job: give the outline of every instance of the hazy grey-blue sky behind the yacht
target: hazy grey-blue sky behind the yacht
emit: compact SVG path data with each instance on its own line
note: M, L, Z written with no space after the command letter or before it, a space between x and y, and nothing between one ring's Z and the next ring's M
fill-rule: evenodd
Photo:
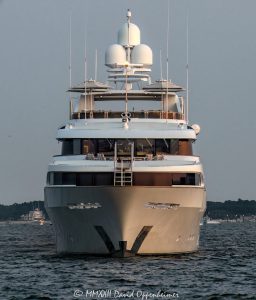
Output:
M170 79L186 86L189 15L189 120L201 133L207 200L256 199L255 0L0 0L0 204L43 200L47 166L59 154L68 119L69 19L72 83L106 80L104 55L126 20L154 53L152 79L166 72L169 1Z

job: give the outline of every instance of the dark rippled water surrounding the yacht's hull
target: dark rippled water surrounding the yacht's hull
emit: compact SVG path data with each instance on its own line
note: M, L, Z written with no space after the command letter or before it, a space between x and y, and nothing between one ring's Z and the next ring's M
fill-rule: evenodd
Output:
M52 226L1 224L0 252L1 300L256 299L256 223L203 226L195 254L125 259L59 257Z

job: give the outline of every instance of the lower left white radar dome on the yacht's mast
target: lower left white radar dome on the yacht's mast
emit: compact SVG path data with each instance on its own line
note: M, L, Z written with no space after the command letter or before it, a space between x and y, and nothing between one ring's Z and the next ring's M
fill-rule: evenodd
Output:
M126 62L126 52L121 45L114 44L108 47L105 53L105 65L114 67L124 65Z

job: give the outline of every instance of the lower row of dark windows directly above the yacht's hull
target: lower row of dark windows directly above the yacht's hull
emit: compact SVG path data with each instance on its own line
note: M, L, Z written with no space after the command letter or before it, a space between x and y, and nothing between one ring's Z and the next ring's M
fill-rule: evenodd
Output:
M125 176L125 175L124 175ZM49 185L75 185L75 186L113 186L113 172L49 172L47 175ZM149 173L134 172L132 185L135 186L172 186L201 184L199 173Z

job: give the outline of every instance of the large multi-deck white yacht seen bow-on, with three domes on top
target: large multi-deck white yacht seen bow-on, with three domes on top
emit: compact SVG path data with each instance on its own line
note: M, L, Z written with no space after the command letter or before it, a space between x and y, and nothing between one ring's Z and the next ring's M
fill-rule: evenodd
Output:
M206 189L184 89L151 82L152 50L127 22L105 53L108 84L73 86L61 155L49 164L45 207L58 253L147 255L198 248Z

